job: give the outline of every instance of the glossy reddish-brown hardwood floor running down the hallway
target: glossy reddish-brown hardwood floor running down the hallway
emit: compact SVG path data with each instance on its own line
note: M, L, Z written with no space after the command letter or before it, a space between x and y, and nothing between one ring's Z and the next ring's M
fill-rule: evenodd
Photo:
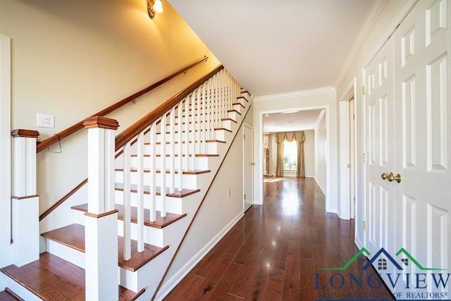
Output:
M264 205L252 206L165 300L393 299L374 270L362 271L364 257L345 271L322 270L357 252L354 222L325 213L312 178L264 183ZM349 274L362 275L362 285Z

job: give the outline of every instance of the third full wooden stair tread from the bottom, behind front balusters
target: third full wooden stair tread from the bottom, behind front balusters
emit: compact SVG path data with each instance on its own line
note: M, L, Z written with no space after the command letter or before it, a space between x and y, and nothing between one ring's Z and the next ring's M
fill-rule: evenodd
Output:
M70 207L74 210L87 212L87 204L81 204L78 206ZM124 218L124 207L121 204L116 204L115 209L118 210L118 219L123 221ZM156 211L156 220L150 221L150 210L144 209L144 225L152 227L152 228L164 228L166 226L171 225L171 223L174 223L175 221L178 221L179 219L183 219L186 214L174 214L174 213L166 213L165 217L161 217L161 212ZM137 223L137 208L131 207L131 217L130 217L132 223Z

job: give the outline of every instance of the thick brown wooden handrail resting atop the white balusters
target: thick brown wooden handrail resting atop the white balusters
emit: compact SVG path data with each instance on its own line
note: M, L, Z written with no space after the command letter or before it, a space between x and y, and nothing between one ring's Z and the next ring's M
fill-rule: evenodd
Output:
M123 130L122 133L116 136L116 152L121 149L127 142L132 140L136 135L138 135L142 130L147 128L149 125L154 123L158 118L160 118L164 113L166 113L169 109L171 109L175 104L178 104L181 100L187 97L191 92L193 92L199 85L202 85L203 82L211 78L213 75L218 73L224 68L224 66L220 65L212 70L210 73L205 75L202 78L199 78L196 82L192 83L182 91L175 94L173 97L168 99L163 104L157 106L154 110L148 113L146 116L142 117L136 123L130 125L127 129Z

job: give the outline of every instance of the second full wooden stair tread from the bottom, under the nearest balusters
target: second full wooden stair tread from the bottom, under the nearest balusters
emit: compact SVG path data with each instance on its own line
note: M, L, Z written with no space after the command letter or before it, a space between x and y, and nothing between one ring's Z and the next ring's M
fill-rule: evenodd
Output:
M85 253L85 226L73 223L52 231L41 234L44 238L54 240L61 245L72 247L75 250ZM161 254L166 247L156 247L154 245L144 244L144 251L137 251L137 241L132 240L132 257L127 261L123 260L123 238L118 236L118 266L129 271L137 271L141 266L147 264L152 259Z

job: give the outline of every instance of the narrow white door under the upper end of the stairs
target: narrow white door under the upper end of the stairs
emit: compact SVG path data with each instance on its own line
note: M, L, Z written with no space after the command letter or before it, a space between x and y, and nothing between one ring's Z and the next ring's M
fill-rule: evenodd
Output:
M243 207L246 211L254 202L254 130L246 124L242 128Z

